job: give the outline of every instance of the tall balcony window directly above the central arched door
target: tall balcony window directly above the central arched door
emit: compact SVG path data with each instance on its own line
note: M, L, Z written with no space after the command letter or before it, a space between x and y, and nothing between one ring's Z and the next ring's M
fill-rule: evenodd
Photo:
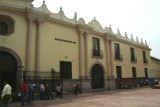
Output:
M98 38L92 38L93 43L93 56L100 56L100 42Z

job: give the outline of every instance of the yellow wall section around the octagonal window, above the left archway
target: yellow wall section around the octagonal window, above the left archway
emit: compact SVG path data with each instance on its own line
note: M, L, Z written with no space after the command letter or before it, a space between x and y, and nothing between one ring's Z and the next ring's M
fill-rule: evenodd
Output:
M0 36L0 46L4 46L16 52L21 60L22 65L25 65L25 52L26 52L26 35L27 23L25 16L13 13L0 11L2 15L8 15L15 21L15 31L9 36Z

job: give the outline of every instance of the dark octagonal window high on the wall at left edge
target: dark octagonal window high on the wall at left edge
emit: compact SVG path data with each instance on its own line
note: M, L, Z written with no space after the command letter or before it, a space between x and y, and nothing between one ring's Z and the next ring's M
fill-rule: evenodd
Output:
M7 35L9 26L6 22L0 21L0 35Z

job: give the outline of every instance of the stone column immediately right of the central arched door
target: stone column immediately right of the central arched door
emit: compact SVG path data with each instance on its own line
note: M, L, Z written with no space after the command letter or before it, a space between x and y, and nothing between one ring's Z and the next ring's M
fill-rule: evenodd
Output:
M109 40L106 38L106 60L107 60L107 81L108 81L108 89L111 87L111 71L110 71L110 57L109 57Z

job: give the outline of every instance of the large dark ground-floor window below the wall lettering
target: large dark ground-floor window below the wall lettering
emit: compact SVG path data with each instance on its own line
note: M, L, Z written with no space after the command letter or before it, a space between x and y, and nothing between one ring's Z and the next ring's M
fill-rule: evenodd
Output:
M63 79L72 79L72 62L60 61L60 76Z

